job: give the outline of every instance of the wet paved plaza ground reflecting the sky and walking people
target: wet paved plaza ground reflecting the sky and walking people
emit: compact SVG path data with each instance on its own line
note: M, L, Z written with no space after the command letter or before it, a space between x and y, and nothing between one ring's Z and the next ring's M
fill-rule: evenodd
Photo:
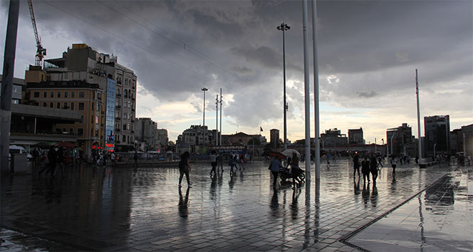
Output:
M266 163L247 164L243 173L232 177L229 168L224 169L222 176L211 179L209 164L194 164L193 188L189 190L187 186L177 188L179 171L175 167L84 166L65 168L63 176L58 174L56 179L44 175L38 178L37 172L2 175L1 238L12 247L2 243L1 248L394 251L404 246L390 243L399 237L391 239L393 235L388 233L372 239L376 246L370 246L373 242L364 233L378 233L376 224L383 224L383 231L395 228L415 233L417 229L399 220L412 216L412 211L402 209L419 199L425 202L420 208L427 225L432 206L443 206L447 200L445 189L438 189L444 187L435 186L436 182L447 183L446 177L459 178L448 180L459 189L448 190L451 209L442 212L445 219L434 219L435 224L452 225L453 216L462 216L467 223L473 220L471 167L437 165L419 169L408 164L396 169L395 179L391 169L385 167L376 184L363 184L358 176L353 179L350 162L342 159L331 162L330 168L322 164L317 187L312 179L308 188L293 190L289 185L277 191L271 189ZM389 218L394 221L383 222ZM472 237L473 229L469 227L465 226L463 233ZM9 230L24 233L26 238L14 238L19 234ZM428 231L422 231L424 237ZM423 244L432 246L428 241L440 235L429 233ZM464 244L457 248L473 248L469 241L462 241L464 236L454 238ZM409 246L412 244L419 244L420 250L422 238ZM416 250L415 245L412 247Z

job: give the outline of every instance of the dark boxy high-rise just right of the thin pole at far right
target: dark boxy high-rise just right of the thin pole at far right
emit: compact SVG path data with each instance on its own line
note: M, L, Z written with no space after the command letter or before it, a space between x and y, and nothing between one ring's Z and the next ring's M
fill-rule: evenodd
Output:
M446 154L450 152L450 120L449 115L424 117L425 154ZM434 147L435 146L435 147Z

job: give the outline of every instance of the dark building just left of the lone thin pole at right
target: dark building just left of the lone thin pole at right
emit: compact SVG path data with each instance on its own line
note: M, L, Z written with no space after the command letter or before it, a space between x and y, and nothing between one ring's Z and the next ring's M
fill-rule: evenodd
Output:
M399 155L410 154L415 157L414 138L412 137L412 127L407 123L402 123L400 127L393 127L386 130L386 145L388 145L388 154Z

